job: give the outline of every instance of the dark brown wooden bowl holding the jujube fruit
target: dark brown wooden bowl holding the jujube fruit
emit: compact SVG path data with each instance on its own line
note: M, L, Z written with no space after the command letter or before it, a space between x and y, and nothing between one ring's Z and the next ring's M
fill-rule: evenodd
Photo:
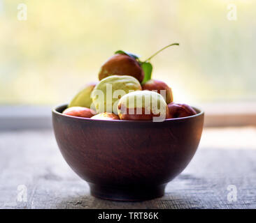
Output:
M163 122L93 120L52 110L59 149L73 171L102 199L162 197L190 162L201 138L204 112Z

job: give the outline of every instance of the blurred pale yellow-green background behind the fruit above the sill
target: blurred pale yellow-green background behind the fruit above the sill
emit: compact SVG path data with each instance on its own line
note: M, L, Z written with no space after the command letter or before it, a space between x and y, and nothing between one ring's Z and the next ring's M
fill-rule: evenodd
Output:
M152 59L174 100L255 101L255 15L253 0L0 0L0 104L67 102L115 50L145 59L174 42Z

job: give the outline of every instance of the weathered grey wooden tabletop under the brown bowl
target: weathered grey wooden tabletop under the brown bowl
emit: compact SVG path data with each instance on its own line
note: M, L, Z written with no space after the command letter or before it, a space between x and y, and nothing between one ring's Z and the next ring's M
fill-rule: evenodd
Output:
M206 129L192 162L159 199L90 196L52 130L0 132L0 208L256 208L256 129Z

